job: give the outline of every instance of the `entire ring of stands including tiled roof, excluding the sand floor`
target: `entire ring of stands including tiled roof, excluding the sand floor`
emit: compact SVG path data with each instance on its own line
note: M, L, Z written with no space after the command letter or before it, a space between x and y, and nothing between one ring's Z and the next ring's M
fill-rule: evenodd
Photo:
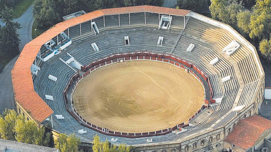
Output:
M86 122L72 107L71 92L94 69L121 59L187 69L205 86L208 107L187 124L151 134L116 133ZM201 149L223 142L239 119L257 113L264 76L255 47L229 25L157 6L102 9L63 21L26 44L12 70L17 112L26 119L38 126L50 123L56 133L75 132L83 142L98 134L102 140L114 137L118 140L112 143L150 151L158 149L153 145L185 151L190 143ZM205 115L207 110L212 113ZM197 117L204 119L197 122ZM172 132L179 127L184 131ZM196 142L202 139L211 142Z

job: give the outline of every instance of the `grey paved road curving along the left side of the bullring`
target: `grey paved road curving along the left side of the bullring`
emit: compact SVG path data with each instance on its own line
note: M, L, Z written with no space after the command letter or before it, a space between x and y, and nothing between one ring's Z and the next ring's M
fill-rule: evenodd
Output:
M21 43L19 45L20 52L22 51L24 45L32 40L32 25L34 22L33 17L33 5L26 10L26 12L18 19L14 19L14 21L18 21L21 24L21 29L17 31L20 35L19 39ZM1 21L1 25L5 25ZM0 112L2 112L5 108L14 109L14 93L11 81L11 69L15 64L18 56L14 57L4 68L4 70L0 73Z

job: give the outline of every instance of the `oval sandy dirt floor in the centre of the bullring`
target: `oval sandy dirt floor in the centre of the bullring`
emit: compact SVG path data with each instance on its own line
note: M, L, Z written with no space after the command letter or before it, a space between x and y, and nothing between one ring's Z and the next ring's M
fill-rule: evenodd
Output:
M73 99L88 122L141 133L187 122L204 104L204 90L195 77L171 64L125 61L91 72L79 82Z

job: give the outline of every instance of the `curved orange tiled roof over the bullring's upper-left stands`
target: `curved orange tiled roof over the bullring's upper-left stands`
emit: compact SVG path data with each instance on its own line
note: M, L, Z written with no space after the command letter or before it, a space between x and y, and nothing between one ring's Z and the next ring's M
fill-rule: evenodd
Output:
M34 91L30 71L30 67L34 62L40 47L67 28L82 22L108 14L134 13L142 11L172 15L185 15L190 12L189 10L177 10L157 6L131 6L95 10L91 13L87 13L77 18L72 18L70 20L56 24L34 40L27 43L24 46L18 60L14 64L14 67L11 71L11 77L15 101L17 101L25 110L30 111L30 115L37 123L44 121L46 118L53 114L53 111Z

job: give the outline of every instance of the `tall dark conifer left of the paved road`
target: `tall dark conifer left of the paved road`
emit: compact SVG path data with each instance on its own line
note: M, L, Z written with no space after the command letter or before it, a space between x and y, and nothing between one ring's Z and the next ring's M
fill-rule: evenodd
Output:
M13 22L13 9L5 7L1 12L5 26L1 28L0 44L9 53L19 53L19 35L16 33L21 28L18 22Z

